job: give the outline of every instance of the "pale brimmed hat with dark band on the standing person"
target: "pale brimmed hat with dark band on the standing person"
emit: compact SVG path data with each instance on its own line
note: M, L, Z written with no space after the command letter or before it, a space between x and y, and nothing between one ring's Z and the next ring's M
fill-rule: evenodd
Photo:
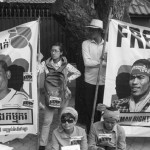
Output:
M91 23L89 26L86 26L89 28L100 28L103 30L103 21L99 20L99 19L92 19Z

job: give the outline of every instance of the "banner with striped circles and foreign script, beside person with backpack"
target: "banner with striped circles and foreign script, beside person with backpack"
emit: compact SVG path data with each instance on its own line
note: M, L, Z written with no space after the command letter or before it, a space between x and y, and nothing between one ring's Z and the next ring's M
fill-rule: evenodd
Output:
M0 135L38 132L38 27L32 21L0 32Z

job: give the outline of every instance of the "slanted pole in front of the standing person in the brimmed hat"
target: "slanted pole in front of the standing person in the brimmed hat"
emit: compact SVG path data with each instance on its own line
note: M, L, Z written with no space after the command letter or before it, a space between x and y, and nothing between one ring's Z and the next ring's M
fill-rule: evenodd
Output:
M102 63L103 63L103 57L104 57L104 52L105 52L105 47L106 47L106 40L107 40L107 35L108 35L108 29L109 29L109 23L110 23L111 15L112 15L112 7L110 7L110 11L109 11L108 23L107 23L106 31L105 31L105 35L104 35L104 45L103 45L103 49L102 49L102 55L100 57L100 66L99 66L97 82L96 82L94 104L93 104L93 111L92 111L92 117L91 117L91 125L94 122L95 107L96 107L96 103L97 103L98 87L99 87L99 80L100 80L100 71L101 71Z

